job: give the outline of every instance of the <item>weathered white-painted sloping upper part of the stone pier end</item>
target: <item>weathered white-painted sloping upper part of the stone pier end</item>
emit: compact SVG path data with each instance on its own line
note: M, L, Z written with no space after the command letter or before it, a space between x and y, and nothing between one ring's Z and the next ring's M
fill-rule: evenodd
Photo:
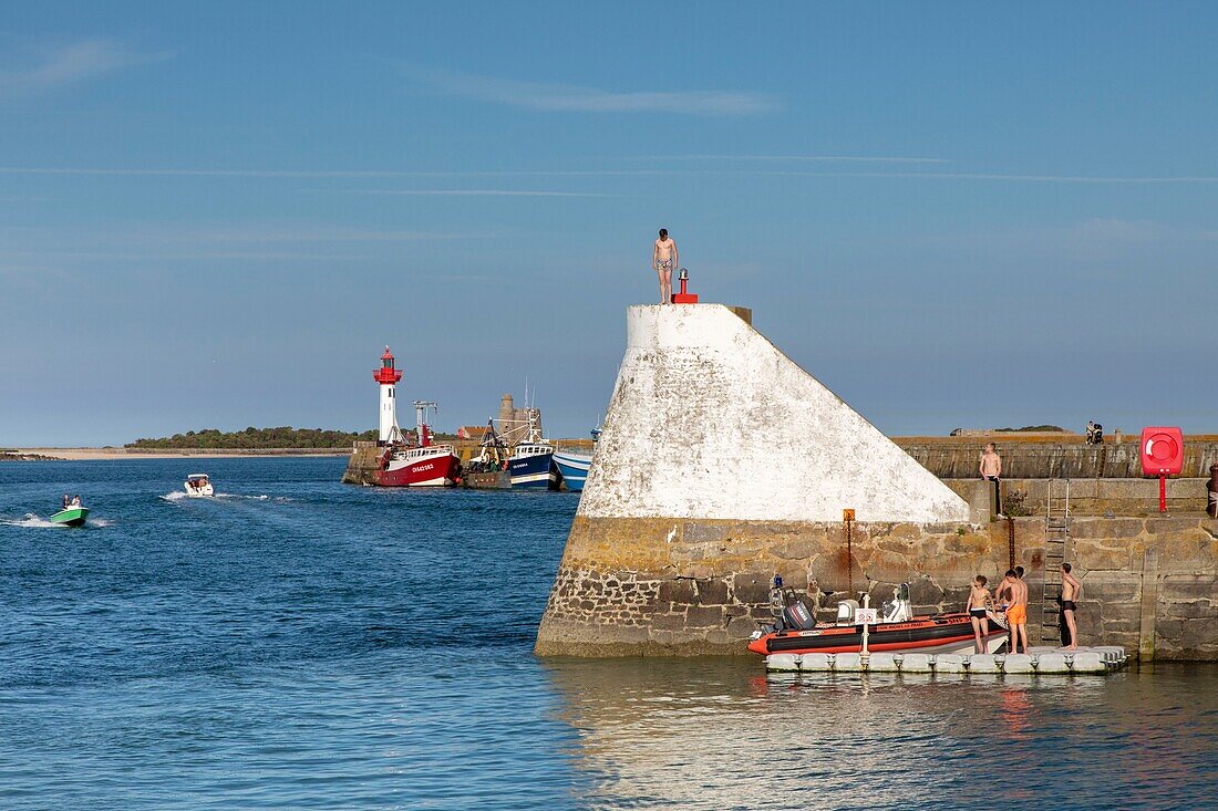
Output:
M962 498L726 307L631 307L626 332L580 515L968 522Z

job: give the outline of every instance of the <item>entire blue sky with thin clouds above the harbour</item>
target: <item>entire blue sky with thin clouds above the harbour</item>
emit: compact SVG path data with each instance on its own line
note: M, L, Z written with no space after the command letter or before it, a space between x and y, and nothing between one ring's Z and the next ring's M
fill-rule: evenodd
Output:
M1218 431L1212 4L10 4L0 444L583 435L667 226L890 434ZM403 418L408 421L409 415Z

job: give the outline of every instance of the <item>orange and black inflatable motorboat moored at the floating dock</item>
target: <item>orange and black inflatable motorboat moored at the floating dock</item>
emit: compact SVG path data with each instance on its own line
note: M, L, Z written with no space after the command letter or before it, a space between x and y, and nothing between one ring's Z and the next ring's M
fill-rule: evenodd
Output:
M972 653L976 649L967 613L914 616L909 593L909 583L898 586L894 599L884 603L876 623L868 623L868 651L934 654ZM842 600L834 622L816 622L803 603L790 602L781 609L778 625L783 627L759 631L749 643L749 650L762 656L775 653L861 653L864 626L857 622L859 610L857 600ZM989 634L984 639L987 653L998 651L1006 638L1007 630L993 615Z

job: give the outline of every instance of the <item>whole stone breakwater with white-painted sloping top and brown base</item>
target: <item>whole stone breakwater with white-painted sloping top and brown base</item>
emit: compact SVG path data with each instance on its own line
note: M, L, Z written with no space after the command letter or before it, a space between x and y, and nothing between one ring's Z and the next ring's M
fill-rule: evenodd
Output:
M990 521L980 482L955 491L733 311L632 307L535 650L743 654L775 575L828 619L845 593L878 604L900 582L920 613L961 610L974 575L1012 564L1039 642L1044 518ZM1084 644L1218 659L1218 520L1078 515L1065 559Z

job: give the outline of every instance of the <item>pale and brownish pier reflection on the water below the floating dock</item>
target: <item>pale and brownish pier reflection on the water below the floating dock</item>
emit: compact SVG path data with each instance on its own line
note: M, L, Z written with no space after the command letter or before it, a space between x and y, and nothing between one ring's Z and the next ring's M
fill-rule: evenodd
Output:
M965 807L1006 794L1038 809L1201 809L1218 792L1209 665L1077 678L543 666L591 807Z

